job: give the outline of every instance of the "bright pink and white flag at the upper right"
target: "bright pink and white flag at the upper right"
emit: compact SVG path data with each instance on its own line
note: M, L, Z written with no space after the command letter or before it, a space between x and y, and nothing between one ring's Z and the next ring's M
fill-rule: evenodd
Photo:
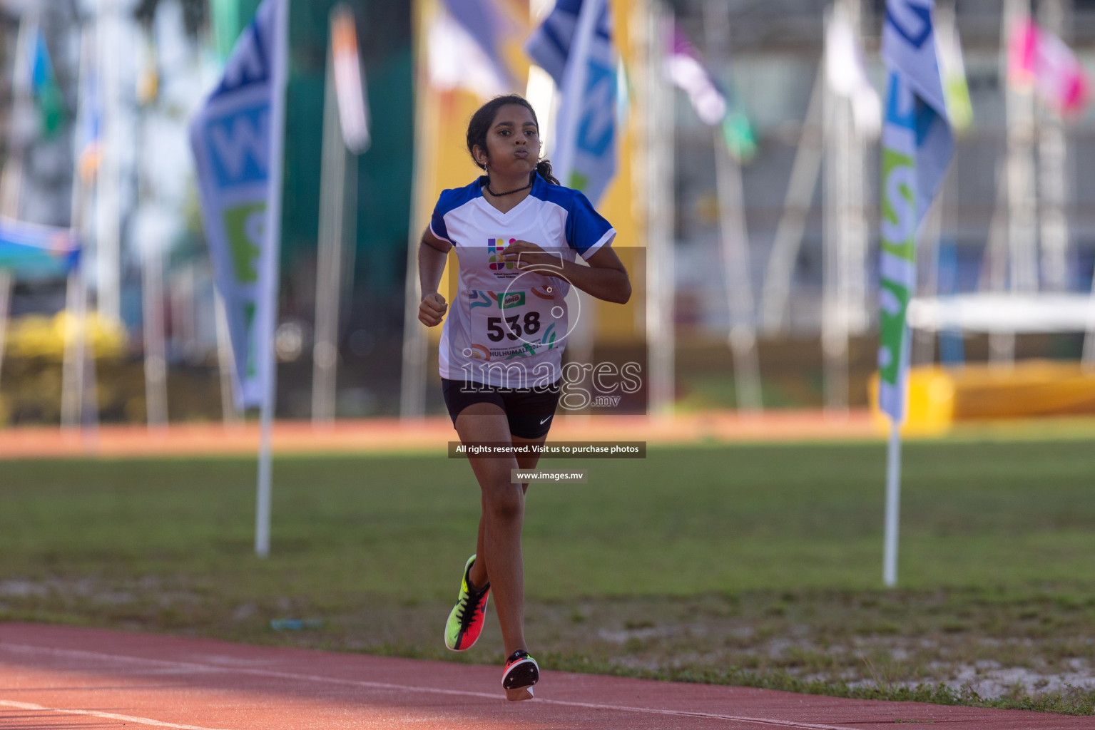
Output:
M1075 114L1087 103L1087 77L1075 55L1029 18L1015 24L1007 48L1007 81L1034 88L1061 114Z

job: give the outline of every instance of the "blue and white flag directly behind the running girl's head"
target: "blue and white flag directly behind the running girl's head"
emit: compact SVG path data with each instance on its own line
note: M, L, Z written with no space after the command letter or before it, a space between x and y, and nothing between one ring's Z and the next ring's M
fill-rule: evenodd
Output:
M616 167L616 51L608 0L558 0L525 46L562 96L552 162L595 205Z

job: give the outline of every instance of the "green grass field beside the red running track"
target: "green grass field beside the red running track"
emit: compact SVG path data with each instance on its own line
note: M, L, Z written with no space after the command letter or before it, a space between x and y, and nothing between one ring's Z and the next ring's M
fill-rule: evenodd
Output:
M903 461L896 592L880 587L884 444L544 461L589 480L530 487L529 639L554 667L856 696L954 686L992 662L1092 674L1092 442L911 442ZM462 461L276 460L267 559L252 547L253 459L15 461L0 474L0 617L447 653L479 510ZM269 628L285 617L323 626ZM457 659L496 661L488 627ZM933 692L917 696L983 702ZM1079 712L1095 699L1052 682L1001 695Z

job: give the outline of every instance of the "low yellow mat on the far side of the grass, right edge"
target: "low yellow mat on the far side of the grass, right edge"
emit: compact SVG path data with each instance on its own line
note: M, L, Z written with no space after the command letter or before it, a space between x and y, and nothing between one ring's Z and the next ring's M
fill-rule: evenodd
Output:
M871 407L879 431L889 419L878 410L878 375ZM1014 367L975 363L909 371L909 417L901 433L936 436L959 421L1095 415L1095 373L1079 362L1026 360Z

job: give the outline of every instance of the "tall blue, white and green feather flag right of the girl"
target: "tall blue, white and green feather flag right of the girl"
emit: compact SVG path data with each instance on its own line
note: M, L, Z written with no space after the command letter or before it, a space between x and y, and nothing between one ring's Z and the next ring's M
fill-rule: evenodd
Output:
M883 25L889 97L883 124L878 405L895 424L904 420L906 310L917 288L917 232L954 150L932 32L933 5L934 0L887 0Z

